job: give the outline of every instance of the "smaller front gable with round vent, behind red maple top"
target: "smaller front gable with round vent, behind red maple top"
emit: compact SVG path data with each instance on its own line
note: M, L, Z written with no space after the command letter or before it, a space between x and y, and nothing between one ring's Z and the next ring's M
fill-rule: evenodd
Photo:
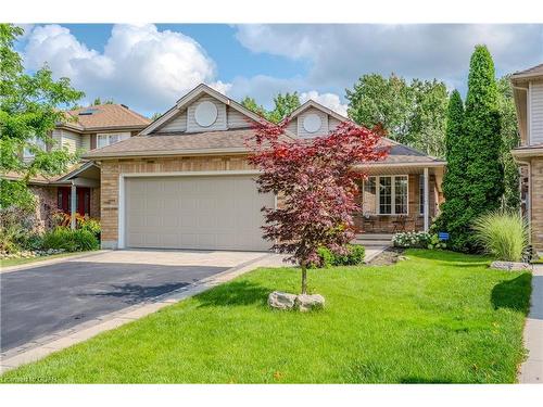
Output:
M290 115L287 129L300 138L326 136L349 118L308 100Z

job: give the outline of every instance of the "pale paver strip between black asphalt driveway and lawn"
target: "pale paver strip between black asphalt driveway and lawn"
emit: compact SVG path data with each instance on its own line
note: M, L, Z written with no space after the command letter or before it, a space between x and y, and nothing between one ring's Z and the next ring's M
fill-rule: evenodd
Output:
M176 291L171 291L151 301L123 308L118 311L106 314L67 330L42 336L22 346L10 349L1 354L0 374L15 369L22 365L37 361L52 353L66 347L85 342L99 333L132 322L143 318L161 308L176 304L185 298L189 298L204 291L207 291L224 282L230 281L238 276L252 271L257 267L280 267L278 266L283 256L268 253L261 257L231 267L228 270L197 281L190 285Z

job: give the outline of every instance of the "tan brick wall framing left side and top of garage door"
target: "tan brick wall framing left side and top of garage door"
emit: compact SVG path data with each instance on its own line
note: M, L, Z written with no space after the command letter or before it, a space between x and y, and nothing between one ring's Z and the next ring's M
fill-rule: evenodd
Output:
M115 249L118 240L118 177L129 173L214 171L251 169L243 156L126 158L101 165L102 246Z

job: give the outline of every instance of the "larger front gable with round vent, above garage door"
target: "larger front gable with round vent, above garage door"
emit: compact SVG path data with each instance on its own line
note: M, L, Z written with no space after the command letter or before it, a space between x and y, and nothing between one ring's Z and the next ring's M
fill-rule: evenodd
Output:
M255 120L263 118L241 104L201 84L175 106L149 125L141 135L179 136L251 128Z

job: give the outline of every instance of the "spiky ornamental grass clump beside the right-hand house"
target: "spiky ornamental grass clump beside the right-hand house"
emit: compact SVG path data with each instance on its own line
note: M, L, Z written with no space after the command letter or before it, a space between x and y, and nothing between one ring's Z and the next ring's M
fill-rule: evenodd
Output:
M522 215L493 211L473 221L476 239L498 260L520 262L528 247L528 226Z

